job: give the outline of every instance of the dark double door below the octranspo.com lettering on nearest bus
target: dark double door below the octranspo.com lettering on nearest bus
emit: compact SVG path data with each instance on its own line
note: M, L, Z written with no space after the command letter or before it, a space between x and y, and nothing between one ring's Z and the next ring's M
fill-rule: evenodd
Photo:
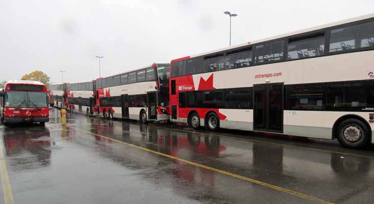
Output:
M255 84L253 130L283 132L283 83Z

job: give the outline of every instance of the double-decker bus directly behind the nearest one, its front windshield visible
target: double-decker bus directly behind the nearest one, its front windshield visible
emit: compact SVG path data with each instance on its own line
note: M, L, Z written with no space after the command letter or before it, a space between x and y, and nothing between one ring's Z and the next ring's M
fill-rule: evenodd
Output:
M167 63L153 63L98 78L95 81L95 111L108 119L169 120L169 70Z

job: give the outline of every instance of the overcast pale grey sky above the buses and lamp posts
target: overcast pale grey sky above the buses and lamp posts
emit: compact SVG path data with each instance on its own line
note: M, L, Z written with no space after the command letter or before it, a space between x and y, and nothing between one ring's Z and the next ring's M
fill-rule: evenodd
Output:
M0 0L0 81L35 70L83 82L374 12L373 0Z

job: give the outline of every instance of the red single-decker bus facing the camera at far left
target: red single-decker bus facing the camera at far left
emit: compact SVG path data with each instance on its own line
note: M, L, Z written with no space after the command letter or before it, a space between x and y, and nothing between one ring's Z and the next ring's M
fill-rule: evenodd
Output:
M3 124L49 122L46 86L38 81L12 80L0 92L0 117Z

